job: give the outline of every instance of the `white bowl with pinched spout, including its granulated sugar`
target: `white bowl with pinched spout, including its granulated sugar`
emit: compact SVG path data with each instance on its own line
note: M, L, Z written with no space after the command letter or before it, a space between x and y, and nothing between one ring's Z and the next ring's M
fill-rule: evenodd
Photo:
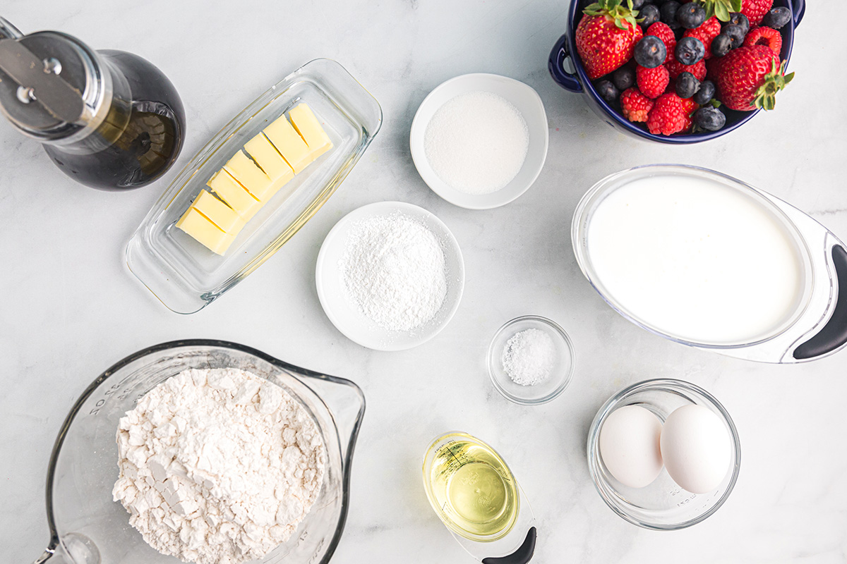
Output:
M436 87L409 135L424 182L471 210L506 205L526 192L544 167L548 143L538 93L497 74L462 74Z

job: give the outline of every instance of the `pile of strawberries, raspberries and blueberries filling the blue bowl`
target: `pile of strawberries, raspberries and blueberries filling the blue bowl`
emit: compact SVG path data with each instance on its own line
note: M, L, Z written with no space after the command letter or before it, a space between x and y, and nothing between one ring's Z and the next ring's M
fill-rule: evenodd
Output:
M717 131L723 108L770 110L794 78L780 59L791 11L773 0L583 2L575 40L585 73L651 134Z

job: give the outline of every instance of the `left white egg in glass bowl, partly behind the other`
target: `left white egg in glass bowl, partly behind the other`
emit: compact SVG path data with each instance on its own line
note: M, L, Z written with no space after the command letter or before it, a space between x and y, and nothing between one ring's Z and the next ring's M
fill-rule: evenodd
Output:
M617 408L600 430L600 455L612 476L632 488L649 485L662 472L662 422L638 405Z

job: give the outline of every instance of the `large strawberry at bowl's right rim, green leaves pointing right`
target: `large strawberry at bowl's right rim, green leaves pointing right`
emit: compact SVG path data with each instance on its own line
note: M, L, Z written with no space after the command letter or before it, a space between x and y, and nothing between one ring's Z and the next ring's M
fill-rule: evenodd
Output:
M731 110L772 110L774 96L794 78L770 47L739 47L717 59L711 71L723 105Z

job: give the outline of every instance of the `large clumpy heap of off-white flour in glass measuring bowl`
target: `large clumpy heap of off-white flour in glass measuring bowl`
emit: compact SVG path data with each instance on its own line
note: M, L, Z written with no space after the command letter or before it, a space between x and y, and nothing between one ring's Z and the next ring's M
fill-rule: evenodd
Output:
M324 444L285 390L235 369L185 370L120 419L115 501L147 544L199 564L261 558L318 498Z

